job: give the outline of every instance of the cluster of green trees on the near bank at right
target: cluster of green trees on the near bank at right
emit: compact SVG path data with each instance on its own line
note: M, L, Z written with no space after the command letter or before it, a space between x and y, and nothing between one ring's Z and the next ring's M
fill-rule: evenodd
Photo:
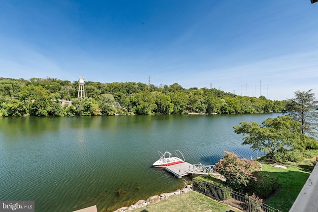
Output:
M316 157L318 161L318 100L315 93L297 91L288 99L283 113L285 116L256 122L240 123L234 132L243 134L242 145L254 151L267 151L266 157L279 162L298 162Z

